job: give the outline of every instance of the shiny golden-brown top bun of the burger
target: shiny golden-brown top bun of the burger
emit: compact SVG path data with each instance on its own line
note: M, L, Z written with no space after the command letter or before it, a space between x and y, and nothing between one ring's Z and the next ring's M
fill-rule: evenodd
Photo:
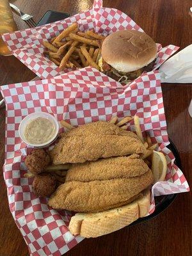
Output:
M156 58L156 43L136 30L120 30L102 43L102 58L120 72L132 72L147 66Z

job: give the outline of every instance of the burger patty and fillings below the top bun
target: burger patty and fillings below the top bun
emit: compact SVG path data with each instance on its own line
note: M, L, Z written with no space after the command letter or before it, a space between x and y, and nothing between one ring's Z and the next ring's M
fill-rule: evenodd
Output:
M116 81L118 81L121 77L125 76L127 77L127 79L129 80L134 80L137 77L141 76L141 74L145 71L145 72L149 72L152 70L153 66L154 66L154 62L156 60L153 60L151 63L149 63L147 66L140 68L138 70L132 71L132 72L120 72L118 70L116 70L115 68L111 67L108 63L106 63L106 61L104 61L102 59L102 72L104 72L104 74L106 74L107 76L115 79Z

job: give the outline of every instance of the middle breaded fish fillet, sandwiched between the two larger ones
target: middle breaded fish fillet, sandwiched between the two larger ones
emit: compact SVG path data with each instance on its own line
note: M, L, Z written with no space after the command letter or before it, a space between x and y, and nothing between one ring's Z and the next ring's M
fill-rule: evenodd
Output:
M92 180L108 180L131 178L148 172L148 166L137 154L122 157L109 157L99 161L72 164L65 177L68 181L89 182Z

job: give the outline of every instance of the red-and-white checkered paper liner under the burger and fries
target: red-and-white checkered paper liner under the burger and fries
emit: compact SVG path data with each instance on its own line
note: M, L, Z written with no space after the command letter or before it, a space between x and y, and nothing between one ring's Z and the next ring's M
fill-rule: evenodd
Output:
M24 65L31 69L36 76L42 79L49 79L70 71L65 69L60 71L51 60L43 54L45 47L43 40L58 35L70 26L73 22L79 24L81 31L95 29L98 33L108 35L122 29L134 29L143 31L130 17L120 10L113 8L102 8L102 1L94 1L93 9L83 13L78 13L65 20L53 22L38 28L29 28L22 31L7 33L3 35L3 40L8 45L13 55ZM157 44L158 54L154 70L166 61L179 47L168 45L164 48Z

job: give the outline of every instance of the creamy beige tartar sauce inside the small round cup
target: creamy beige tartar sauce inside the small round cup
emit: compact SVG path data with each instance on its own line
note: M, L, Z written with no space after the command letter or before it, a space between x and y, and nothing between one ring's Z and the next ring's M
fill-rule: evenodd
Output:
M29 143L43 144L51 140L55 135L56 128L54 124L43 117L33 119L29 124L26 125L24 130L24 136Z

